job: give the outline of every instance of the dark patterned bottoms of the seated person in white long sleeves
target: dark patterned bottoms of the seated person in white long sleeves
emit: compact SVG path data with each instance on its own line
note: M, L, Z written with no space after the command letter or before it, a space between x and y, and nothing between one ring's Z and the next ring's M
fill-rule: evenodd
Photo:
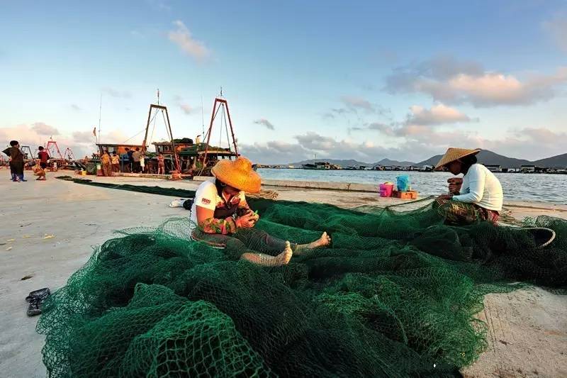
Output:
M445 223L455 226L465 226L478 221L488 221L496 224L500 213L484 209L477 204L453 201L451 199L435 199L434 209L445 217Z

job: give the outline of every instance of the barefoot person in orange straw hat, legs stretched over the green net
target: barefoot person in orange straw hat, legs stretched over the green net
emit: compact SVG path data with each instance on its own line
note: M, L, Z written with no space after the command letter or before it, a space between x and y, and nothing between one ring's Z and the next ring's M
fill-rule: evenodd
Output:
M247 158L220 160L211 172L215 177L199 185L191 206L193 240L226 248L241 259L272 267L286 265L293 254L330 244L327 233L312 243L297 245L254 228L259 215L249 208L245 192L259 192L261 179Z

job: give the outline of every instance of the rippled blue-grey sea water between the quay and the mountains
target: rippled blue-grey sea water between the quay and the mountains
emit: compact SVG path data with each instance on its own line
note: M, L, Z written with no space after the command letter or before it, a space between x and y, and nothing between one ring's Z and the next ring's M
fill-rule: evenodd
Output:
M381 184L395 182L400 174L408 174L412 189L420 196L447 193L449 172L384 172L315 169L258 169L264 179L352 182ZM567 174L496 173L504 191L505 200L545 201L567 204ZM378 189L376 189L378 191Z

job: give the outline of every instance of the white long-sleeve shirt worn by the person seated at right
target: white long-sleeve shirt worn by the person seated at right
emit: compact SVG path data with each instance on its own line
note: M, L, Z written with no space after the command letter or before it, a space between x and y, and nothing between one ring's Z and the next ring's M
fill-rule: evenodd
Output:
M461 194L455 201L477 204L484 209L502 211L504 194L498 178L481 164L473 164L463 177Z

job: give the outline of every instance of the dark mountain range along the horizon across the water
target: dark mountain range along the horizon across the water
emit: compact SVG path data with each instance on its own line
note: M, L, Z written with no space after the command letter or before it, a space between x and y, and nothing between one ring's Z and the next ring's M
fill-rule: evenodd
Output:
M359 162L358 160L337 160L337 159L320 159L319 161L330 162L331 164L340 165L341 167L359 166L366 165L367 167L374 167L374 165L397 165L400 167L407 167L409 165L415 165L417 167L422 167L423 165L436 165L443 155L435 155L422 162L407 162L398 161L390 159L382 159L379 162L369 163L369 162ZM567 167L567 153L562 155L556 155L552 157L547 157L546 159L540 159L535 161L529 161L524 159L517 159L515 157L507 157L504 155L497 154L490 150L481 150L476 155L478 162L485 165L500 165L505 168L520 168L522 165L537 165L538 167L547 168L565 168ZM290 165L301 166L303 164L313 163L313 160L303 160L301 162L289 163Z

